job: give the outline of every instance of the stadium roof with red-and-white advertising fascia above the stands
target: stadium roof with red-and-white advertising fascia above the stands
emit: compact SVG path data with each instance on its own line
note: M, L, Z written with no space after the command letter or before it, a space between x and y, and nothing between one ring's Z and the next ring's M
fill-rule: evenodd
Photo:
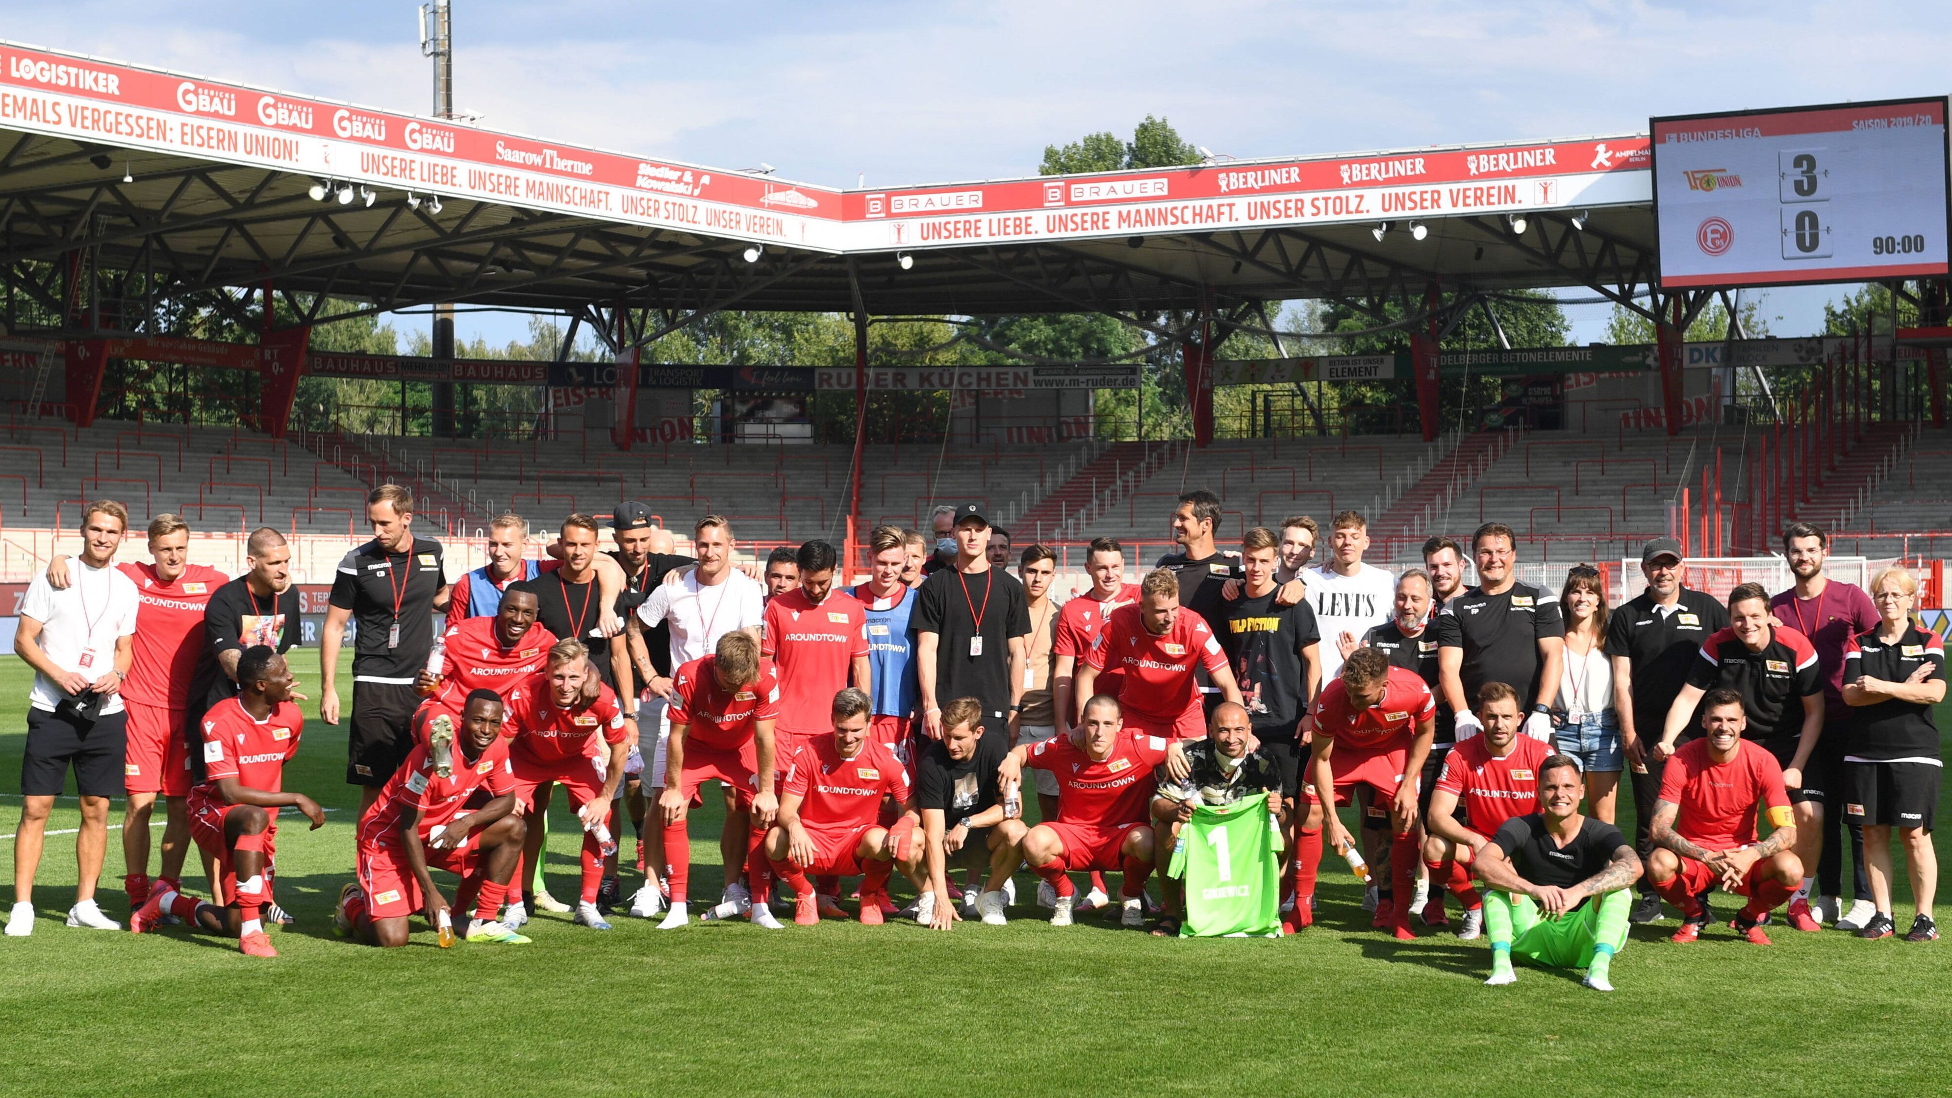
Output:
M0 218L16 294L66 312L64 273L98 279L90 332L265 285L365 312L627 302L642 341L722 308L1374 310L1433 283L1630 304L1655 269L1646 135L832 189L12 43Z

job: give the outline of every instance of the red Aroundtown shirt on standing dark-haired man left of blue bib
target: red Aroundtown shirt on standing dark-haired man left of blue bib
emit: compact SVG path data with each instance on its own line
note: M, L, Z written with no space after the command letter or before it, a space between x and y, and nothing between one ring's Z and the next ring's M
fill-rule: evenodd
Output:
M765 605L759 655L779 675L779 729L834 731L834 694L847 686L853 659L867 657L867 607L839 589L818 607L804 591L787 591Z

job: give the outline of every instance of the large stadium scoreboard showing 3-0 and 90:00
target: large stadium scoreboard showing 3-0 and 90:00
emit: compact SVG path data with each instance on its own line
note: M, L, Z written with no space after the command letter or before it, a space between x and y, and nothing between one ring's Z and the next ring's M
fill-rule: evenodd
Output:
M1661 287L1946 275L1946 98L1651 119Z

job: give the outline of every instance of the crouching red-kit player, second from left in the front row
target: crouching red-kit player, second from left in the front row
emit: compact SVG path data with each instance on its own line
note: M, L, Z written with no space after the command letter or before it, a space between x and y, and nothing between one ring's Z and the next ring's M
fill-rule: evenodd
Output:
M439 708L414 716L414 751L359 817L359 882L340 891L342 934L394 950L406 944L414 911L424 911L437 930L451 930L447 897L431 874L447 870L461 878L457 905L474 893L468 942L529 942L496 921L525 831L502 716L502 696L488 688L467 696L459 722ZM467 811L482 794L486 804Z

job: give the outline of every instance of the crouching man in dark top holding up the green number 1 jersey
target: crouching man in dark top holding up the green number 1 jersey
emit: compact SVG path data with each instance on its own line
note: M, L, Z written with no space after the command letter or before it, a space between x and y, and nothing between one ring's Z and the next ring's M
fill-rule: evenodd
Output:
M1193 809L1202 804L1218 807L1267 794L1269 813L1277 823L1282 819L1281 770L1261 751L1247 751L1251 737L1253 718L1247 716L1247 708L1220 702L1206 724L1206 739L1195 739L1183 747L1187 776L1181 780L1167 776L1159 782L1158 796L1152 800L1152 829L1159 837L1154 854L1165 891L1165 917L1152 928L1156 936L1179 934L1179 921L1187 915L1185 887L1173 882L1167 868L1173 860L1173 848L1179 844L1179 829L1193 819Z

